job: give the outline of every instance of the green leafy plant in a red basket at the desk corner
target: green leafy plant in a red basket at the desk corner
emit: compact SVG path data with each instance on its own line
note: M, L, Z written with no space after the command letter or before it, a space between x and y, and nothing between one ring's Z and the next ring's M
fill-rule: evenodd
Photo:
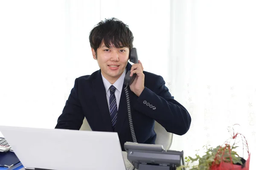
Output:
M250 163L250 154L248 150L248 145L245 137L241 133L233 133L232 139L235 139L237 136L242 137L243 148L244 145L247 149L249 155L247 161L241 158L235 151L238 147L234 142L232 145L230 142L225 142L222 146L209 147L204 146L206 149L204 156L199 156L196 154L193 157L185 157L185 165L177 167L177 170L183 170L184 168L189 168L189 170L249 170ZM198 163L197 165L192 165L192 163Z

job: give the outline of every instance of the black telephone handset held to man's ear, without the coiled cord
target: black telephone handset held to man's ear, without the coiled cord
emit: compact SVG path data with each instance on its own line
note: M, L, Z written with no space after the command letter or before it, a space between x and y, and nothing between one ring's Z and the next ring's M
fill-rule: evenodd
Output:
M137 49L136 48L131 48L130 54L129 54L129 60L130 62L133 63L139 63L138 55L137 55ZM137 74L133 74L132 77L130 77L131 71L129 70L127 74L125 74L125 80L124 84L125 85L131 85L131 83L134 81L135 77Z

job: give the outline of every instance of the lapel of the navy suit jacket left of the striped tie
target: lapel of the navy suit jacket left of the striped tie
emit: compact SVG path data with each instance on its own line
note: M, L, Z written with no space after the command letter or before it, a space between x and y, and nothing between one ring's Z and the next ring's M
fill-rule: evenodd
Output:
M103 126L104 130L102 131L113 131L106 97L106 90L103 84L101 71L99 71L99 74L97 75L96 79L93 80L92 84L93 93L95 94L100 113L102 114L102 118L105 122L105 125Z

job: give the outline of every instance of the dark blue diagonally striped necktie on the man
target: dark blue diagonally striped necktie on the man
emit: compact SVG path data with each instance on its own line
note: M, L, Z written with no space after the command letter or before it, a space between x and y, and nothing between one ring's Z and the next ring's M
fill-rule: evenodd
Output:
M110 110L112 127L114 129L116 126L116 117L117 117L117 104L116 104L116 96L115 96L116 88L115 86L111 85L109 90L110 90L109 110Z

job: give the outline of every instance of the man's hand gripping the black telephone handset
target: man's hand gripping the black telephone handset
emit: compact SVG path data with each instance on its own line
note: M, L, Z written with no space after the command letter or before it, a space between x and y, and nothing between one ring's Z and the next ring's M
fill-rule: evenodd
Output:
M143 74L143 65L139 60L138 64L134 64L131 66L131 74L130 77L132 77L133 74L137 74L136 78L134 79L134 82L130 85L130 89L132 92L134 92L137 96L140 96L142 91L144 90L144 79L145 75Z

